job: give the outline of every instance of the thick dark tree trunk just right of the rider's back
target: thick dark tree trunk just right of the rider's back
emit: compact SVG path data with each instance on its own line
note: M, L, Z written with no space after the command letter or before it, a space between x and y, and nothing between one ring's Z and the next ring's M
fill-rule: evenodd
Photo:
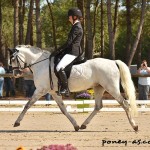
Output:
M92 21L90 16L90 4L91 0L87 0L86 4L86 29L87 29L87 35L86 35L86 49L85 49L85 56L87 59L93 58L93 35L92 35Z

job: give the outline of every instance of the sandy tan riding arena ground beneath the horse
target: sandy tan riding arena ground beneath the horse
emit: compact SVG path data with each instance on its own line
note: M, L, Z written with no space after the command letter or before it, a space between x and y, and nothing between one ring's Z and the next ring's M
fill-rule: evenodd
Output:
M20 112L0 112L0 150L36 150L43 145L72 144L78 150L149 150L150 112L140 113L135 133L124 112L100 112L87 129L74 131L63 114L50 112L28 112L19 127L13 123ZM72 116L81 125L89 113ZM115 143L114 143L115 142Z

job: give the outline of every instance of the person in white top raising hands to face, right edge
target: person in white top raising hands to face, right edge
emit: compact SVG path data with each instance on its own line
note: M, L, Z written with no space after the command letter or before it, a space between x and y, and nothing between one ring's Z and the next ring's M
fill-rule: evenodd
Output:
M138 69L138 73L142 75L150 74L150 67L148 67L146 60L143 60L141 67ZM149 88L150 88L150 77L139 77L138 79L139 100L148 100Z

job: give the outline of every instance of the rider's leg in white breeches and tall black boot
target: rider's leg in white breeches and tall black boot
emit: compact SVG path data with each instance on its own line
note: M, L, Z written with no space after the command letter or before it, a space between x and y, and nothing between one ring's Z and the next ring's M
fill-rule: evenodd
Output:
M64 71L64 68L70 64L76 56L66 54L61 61L58 63L56 70L59 75L59 79L61 82L61 89L59 90L58 94L65 94L66 96L69 96L69 88L68 88L68 81L67 81L67 76Z

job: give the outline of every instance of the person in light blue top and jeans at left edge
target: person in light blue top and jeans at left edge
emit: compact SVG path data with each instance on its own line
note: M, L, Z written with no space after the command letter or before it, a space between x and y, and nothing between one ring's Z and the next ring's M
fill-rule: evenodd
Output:
M0 74L5 74L5 69L3 67L2 62L0 62ZM3 97L3 85L4 85L4 77L0 77L0 98Z

